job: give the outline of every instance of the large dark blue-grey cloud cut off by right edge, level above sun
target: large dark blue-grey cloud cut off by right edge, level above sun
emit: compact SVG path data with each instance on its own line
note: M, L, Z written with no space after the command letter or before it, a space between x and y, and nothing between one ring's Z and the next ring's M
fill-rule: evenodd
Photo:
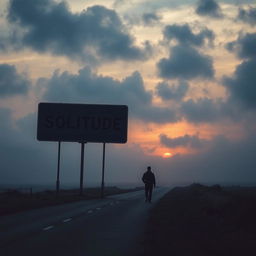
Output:
M236 67L232 77L224 77L223 82L228 89L230 101L256 108L256 59L243 61Z

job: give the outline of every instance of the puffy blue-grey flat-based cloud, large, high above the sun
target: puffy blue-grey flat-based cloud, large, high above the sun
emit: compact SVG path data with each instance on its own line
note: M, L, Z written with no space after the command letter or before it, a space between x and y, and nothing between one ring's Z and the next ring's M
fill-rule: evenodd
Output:
M157 67L160 77L167 79L211 79L214 76L212 58L186 45L173 47L169 58L161 59Z

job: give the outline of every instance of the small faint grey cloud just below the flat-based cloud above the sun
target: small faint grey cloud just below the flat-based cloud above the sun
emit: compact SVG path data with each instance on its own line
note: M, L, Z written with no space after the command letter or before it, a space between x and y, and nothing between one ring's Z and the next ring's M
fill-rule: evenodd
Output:
M180 81L177 85L169 85L166 82L159 83L156 93L162 100L180 101L186 95L189 85L186 81Z

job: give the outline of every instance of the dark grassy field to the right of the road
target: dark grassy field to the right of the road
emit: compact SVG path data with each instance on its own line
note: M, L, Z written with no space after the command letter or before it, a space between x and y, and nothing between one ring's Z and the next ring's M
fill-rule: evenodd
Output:
M145 256L256 255L256 188L177 187L152 210Z

